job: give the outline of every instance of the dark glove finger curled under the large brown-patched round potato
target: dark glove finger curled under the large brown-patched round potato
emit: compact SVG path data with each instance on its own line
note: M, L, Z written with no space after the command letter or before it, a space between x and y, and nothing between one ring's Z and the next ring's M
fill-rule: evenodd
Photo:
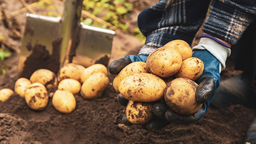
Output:
M165 113L165 118L172 123L176 124L189 124L196 121L197 112L191 115L180 115L174 113L172 110L167 110Z

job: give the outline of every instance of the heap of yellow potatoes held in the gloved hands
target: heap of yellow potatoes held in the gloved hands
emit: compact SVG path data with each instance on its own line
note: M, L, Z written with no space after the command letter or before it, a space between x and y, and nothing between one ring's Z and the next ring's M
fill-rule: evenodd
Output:
M129 102L125 116L132 124L145 124L153 118L155 102L165 102L183 115L195 113L201 106L195 99L194 81L204 70L202 60L192 57L188 43L171 41L150 53L146 62L133 62L114 78L113 86Z

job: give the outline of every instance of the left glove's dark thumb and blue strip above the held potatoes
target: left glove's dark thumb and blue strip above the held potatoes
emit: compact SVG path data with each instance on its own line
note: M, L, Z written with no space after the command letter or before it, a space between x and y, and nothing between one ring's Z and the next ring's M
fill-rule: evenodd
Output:
M129 65L132 62L135 61L143 61L146 62L148 58L148 55L126 55L124 58L114 60L109 65L109 73L116 75L118 74L125 66Z

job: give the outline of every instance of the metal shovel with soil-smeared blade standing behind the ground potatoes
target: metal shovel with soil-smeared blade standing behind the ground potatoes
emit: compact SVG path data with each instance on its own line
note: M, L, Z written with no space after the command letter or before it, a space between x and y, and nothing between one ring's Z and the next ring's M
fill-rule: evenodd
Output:
M66 63L108 66L115 31L79 21L82 0L66 0L62 17L27 14L21 39L18 77L29 78L41 68L55 74Z

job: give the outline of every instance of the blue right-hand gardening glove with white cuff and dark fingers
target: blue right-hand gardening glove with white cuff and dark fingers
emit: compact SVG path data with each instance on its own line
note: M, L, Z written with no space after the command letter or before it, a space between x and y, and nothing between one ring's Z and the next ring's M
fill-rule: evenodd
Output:
M194 114L180 115L174 113L164 103L157 103L153 106L153 113L159 118L178 124L193 123L202 118L206 114L213 94L220 85L220 72L225 69L226 59L230 53L231 50L225 43L210 35L201 35L200 42L193 47L193 57L201 59L204 63L203 74L196 80L199 84L196 90L196 100L198 103L203 103L203 106ZM148 130L162 129L162 127L149 124L146 128Z

